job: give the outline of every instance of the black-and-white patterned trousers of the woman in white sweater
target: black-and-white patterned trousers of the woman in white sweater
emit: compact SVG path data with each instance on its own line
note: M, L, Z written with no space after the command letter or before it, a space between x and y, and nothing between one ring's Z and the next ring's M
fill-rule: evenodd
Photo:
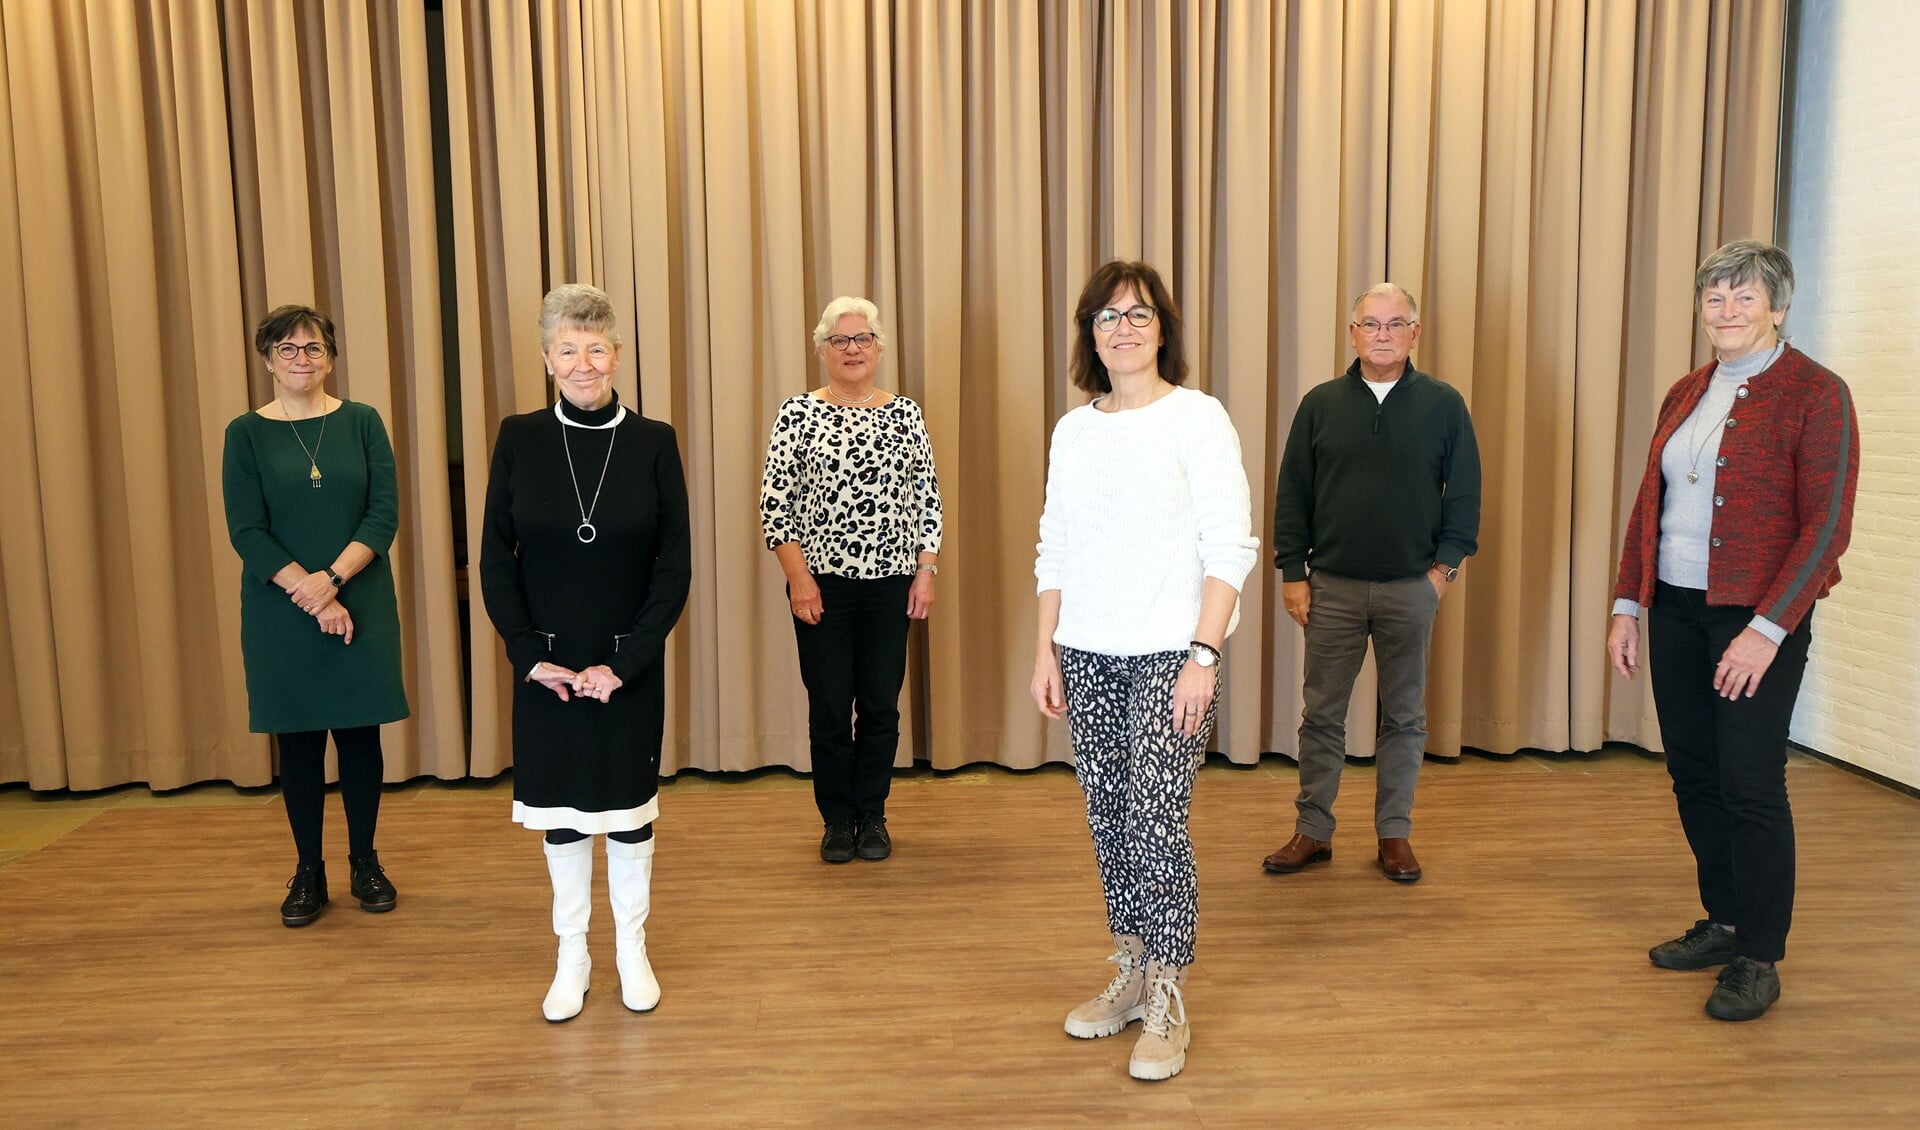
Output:
M1106 656L1060 648L1073 771L1087 792L1108 927L1139 934L1148 959L1179 967L1192 965L1200 913L1187 810L1213 731L1213 704L1194 737L1173 729L1173 683L1183 666L1185 650Z

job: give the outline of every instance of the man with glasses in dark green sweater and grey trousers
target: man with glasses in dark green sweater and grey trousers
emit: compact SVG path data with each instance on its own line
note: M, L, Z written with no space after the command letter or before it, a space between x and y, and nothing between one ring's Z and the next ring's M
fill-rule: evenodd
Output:
M1379 865L1421 877L1407 835L1427 754L1427 645L1459 562L1478 549L1480 449L1467 401L1413 368L1413 295L1392 282L1354 303L1354 365L1300 399L1273 499L1273 564L1306 629L1294 838L1263 867L1290 875L1332 858L1332 800L1346 765L1346 706L1367 658L1380 677L1373 827Z

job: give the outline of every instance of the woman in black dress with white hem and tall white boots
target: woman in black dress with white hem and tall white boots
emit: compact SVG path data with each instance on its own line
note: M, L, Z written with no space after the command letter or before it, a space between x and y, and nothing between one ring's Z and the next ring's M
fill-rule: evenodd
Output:
M620 1000L660 1001L647 963L666 633L687 602L687 485L674 430L612 391L620 338L593 286L540 307L551 409L493 443L480 591L507 643L513 819L545 833L559 965L541 1003L570 1021L588 992L593 840L607 836Z

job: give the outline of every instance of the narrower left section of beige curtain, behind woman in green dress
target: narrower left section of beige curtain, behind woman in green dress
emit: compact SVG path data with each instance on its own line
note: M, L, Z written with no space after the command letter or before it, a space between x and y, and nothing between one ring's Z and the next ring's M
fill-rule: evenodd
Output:
M424 29L401 4L0 4L0 781L271 781L219 470L286 301L332 313L334 391L397 453L388 779L467 773Z

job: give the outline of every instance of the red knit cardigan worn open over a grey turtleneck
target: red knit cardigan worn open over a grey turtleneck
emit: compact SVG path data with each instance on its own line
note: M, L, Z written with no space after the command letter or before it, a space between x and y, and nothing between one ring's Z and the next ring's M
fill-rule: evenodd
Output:
M1716 363L1680 378L1661 405L1647 472L1640 480L1615 599L1653 602L1661 545L1661 453L1707 395ZM1788 345L1734 401L1720 432L1707 602L1751 606L1793 631L1839 583L1853 533L1860 426L1847 384Z

